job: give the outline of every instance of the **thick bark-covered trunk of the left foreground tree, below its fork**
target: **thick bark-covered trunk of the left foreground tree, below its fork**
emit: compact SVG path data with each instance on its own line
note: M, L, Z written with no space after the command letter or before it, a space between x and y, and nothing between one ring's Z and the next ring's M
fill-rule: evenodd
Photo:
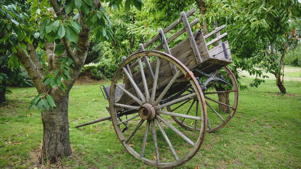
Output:
M69 92L63 97L53 97L56 109L42 112L44 128L42 158L51 164L57 162L57 158L71 155L68 122L68 99Z

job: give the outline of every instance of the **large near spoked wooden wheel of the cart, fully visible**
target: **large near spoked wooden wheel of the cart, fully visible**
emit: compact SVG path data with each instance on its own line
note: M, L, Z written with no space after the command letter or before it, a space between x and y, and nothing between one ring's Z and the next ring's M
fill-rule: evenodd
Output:
M154 60L150 64L154 71L154 80L141 61L147 56ZM130 73L127 65L134 62L138 64ZM169 62L178 70L175 75ZM122 73L127 77L124 87L119 80ZM178 85L191 85L196 92L160 104L162 99L173 94ZM118 100L115 99L116 88L123 91ZM185 112L172 113L166 110L167 106L189 98L199 100L198 117L185 115ZM128 113L127 119L124 116L121 119L121 110L137 111ZM197 153L205 138L206 105L197 79L180 61L163 52L145 50L129 56L120 64L111 83L110 114L116 134L126 150L136 158L158 168L173 168L184 164ZM200 129L183 130L171 116L197 120ZM123 123L128 127L124 132Z

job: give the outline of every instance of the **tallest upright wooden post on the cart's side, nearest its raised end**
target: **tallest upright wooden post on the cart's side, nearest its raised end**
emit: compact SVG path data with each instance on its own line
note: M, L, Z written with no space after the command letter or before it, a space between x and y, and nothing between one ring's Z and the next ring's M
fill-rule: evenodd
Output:
M195 59L196 59L197 63L201 63L202 58L201 58L201 55L200 55L200 51L197 48L197 43L195 42L195 39L194 39L194 36L192 34L191 28L189 26L189 22L188 22L188 19L187 19L187 16L186 16L185 12L181 12L181 17L182 17L182 21L184 23L186 32L188 34L188 39L189 39L192 51L194 53Z

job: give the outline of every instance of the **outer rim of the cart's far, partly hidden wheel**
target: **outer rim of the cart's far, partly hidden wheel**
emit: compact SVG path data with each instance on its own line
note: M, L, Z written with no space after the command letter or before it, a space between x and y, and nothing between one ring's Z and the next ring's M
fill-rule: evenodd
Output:
M213 127L213 128L207 128L207 132L208 133L212 133L215 131L218 131L220 129L222 129L223 127L225 127L225 125L228 124L228 122L230 122L230 120L232 119L232 117L234 116L236 110L237 110L237 105L238 105L238 85L237 85L237 81L236 78L234 76L234 74L232 73L232 71L227 67L223 67L223 69L227 72L228 76L231 79L231 84L233 85L233 90L234 90L234 101L233 101L233 105L231 107L233 107L233 109L231 108L231 112L229 113L228 117L226 119L224 119L225 121L222 122L221 124ZM207 90L207 89L206 89ZM205 91L206 91L205 90ZM205 92L204 92L205 93ZM208 100L208 99L206 99ZM168 111L171 111L170 107L167 107ZM210 107L209 107L210 109ZM189 125L186 125L185 123L182 123L181 120L179 120L177 117L172 116L172 118L175 120L175 122L177 122L179 125L187 128L187 129L191 129L191 130L199 130L198 128L193 128ZM210 119L208 119L210 120Z

